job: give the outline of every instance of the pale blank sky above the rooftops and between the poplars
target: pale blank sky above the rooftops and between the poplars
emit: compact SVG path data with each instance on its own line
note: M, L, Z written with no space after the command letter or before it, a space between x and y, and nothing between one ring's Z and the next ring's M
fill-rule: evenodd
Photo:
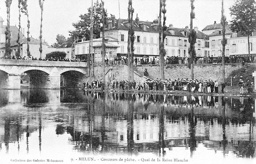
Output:
M97 0L93 0L96 2ZM100 1L100 0L99 0ZM104 0L108 16L114 14L119 18L118 0ZM230 21L229 7L235 0L224 0L225 16ZM120 18L128 18L128 0L119 0ZM87 13L91 6L91 0L45 0L43 11L43 40L50 45L56 42L57 34L69 37L69 31L74 30L72 23L78 22L79 15ZM200 31L221 19L221 0L195 0L195 19L193 27L197 26ZM138 14L140 21L153 21L159 14L159 0L133 0L134 20ZM190 24L190 0L166 0L166 25L173 24L175 28L185 28ZM19 24L18 0L12 0L10 9L10 25ZM40 35L41 10L38 0L28 0L28 14L30 20L30 36L38 39ZM0 0L0 16L6 25L5 0ZM27 31L27 17L22 14L21 26ZM27 35L27 34L26 34ZM26 36L25 35L25 36Z

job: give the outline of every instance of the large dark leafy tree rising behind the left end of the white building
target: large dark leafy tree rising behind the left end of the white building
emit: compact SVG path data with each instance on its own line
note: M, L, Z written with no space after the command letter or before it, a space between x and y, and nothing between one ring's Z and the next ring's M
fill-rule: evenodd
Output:
M75 36L78 39L85 38L90 39L90 24L91 24L91 7L88 9L88 13L80 15L81 19L77 23L73 23L76 30L70 31L70 35ZM105 10L105 17L107 18L107 11ZM102 3L97 0L93 6L93 34L96 38L100 38L100 32L102 31Z

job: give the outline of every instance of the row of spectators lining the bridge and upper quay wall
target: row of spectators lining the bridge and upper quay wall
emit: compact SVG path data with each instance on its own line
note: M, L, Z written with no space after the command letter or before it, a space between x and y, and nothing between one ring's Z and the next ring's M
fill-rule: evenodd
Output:
M1 59L3 59L4 57L0 57ZM68 58L55 58L55 57L50 57L50 58L34 58L33 56L24 56L24 57L16 57L16 56L12 56L12 57L5 57L5 59L18 59L18 60L44 60L44 61L72 61L72 62L87 62L86 59L80 59L80 58L76 58L76 59L68 59ZM125 64L127 65L127 57L120 57L117 56L114 58L114 60L109 60L108 58L105 59L105 64L106 65L122 65ZM91 64L91 60L89 61ZM255 55L251 55L249 59L247 59L247 57L244 56L240 56L240 55L234 55L234 56L229 56L229 57L225 57L225 63L252 63L252 62L256 62L256 58ZM95 63L95 64L100 64L101 62ZM190 57L178 57L178 56L167 56L164 59L164 64L188 64L190 63ZM209 57L195 57L194 59L194 63L195 64L210 64L210 63L222 63L222 57L213 57L209 56ZM134 65L145 65L145 64L159 64L159 57L135 57L134 59Z

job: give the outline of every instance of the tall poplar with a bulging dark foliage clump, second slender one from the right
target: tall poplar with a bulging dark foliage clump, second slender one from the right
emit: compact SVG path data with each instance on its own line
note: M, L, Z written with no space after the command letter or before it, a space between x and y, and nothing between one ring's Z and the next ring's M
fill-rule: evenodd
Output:
M194 79L194 58L196 56L195 43L196 43L196 31L193 29L193 19L195 18L195 0L190 0L191 12L190 12L190 33L188 36L188 41L190 43L189 53L190 53L190 70L191 70L191 79Z

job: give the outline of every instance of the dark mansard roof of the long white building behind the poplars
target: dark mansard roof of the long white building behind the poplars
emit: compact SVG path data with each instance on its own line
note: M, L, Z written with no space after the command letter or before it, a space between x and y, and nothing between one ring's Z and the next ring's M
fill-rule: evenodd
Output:
M133 26L134 31L145 32L145 30L143 30L142 28L139 27L139 25L141 25L141 24L146 25L146 29L147 29L146 32L158 33L158 29L154 27L158 24L155 24L154 22L149 22L149 21L138 21L138 24L137 24L136 21L133 20L132 26ZM128 31L129 27L128 27L127 19L117 19L115 27L112 27L111 29L106 29L106 31L111 31L111 30L127 30ZM172 35L171 32L169 32L168 30L174 30L174 35ZM177 36L177 37L186 37L186 38L188 37L188 35L184 36L182 33L180 33L180 31L184 31L184 29L182 29L182 28L167 28L166 36ZM187 31L188 34L189 34L189 31ZM207 39L209 37L207 35L203 34L202 32L198 31L197 38L198 39L205 39L205 38Z

